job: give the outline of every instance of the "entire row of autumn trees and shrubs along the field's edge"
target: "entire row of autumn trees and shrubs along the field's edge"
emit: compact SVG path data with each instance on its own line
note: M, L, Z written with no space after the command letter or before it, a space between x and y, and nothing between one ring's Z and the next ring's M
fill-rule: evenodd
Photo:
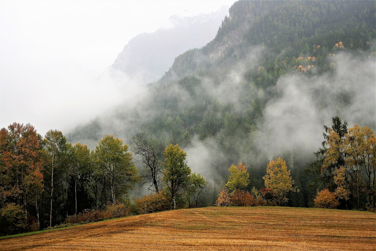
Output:
M312 183L294 184L286 162L278 157L267 165L263 187L251 188L252 170L239 163L228 169L215 205L285 206L298 196L292 193L299 194L299 186L310 185L317 188L314 207L375 211L374 133L358 124L348 128L338 116L332 123L324 126L324 141L314 153L317 160L305 170L307 176L314 175ZM143 167L140 172L132 153ZM67 143L61 131L50 130L42 137L30 124L13 123L0 131L0 155L2 234L87 222L90 217L211 205L209 182L191 172L176 139L161 144L137 133L128 146L106 135L90 151L86 145ZM138 183L151 193L132 204L127 192Z

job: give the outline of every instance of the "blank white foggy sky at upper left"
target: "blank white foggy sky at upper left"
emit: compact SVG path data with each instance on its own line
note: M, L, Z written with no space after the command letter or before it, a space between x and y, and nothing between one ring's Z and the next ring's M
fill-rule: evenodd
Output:
M92 80L131 38L156 31L171 15L210 13L234 2L0 0L0 128L19 122L41 135L67 133L120 103L114 88Z

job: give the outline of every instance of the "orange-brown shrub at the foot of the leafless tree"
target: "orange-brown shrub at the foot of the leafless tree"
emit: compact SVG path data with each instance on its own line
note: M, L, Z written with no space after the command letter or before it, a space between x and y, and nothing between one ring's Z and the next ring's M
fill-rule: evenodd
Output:
M135 207L140 214L155 213L171 209L170 199L163 191L158 194L149 194L141 198L136 198Z

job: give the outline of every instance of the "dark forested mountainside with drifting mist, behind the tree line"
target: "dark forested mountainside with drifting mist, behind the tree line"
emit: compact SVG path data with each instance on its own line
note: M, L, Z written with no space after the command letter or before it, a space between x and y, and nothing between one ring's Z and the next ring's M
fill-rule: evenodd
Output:
M376 124L374 1L238 1L215 37L177 56L156 83L67 135L95 146L106 133L178 142L192 171L223 187L231 164L261 188L268 161L287 160L308 206L304 168L332 116ZM132 90L129 90L132 92ZM126 99L126 98L124 98Z

